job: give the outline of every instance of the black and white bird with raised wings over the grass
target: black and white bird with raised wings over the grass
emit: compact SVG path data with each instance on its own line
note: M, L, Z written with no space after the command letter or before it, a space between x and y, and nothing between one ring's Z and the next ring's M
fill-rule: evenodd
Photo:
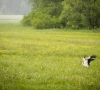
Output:
M85 67L89 67L90 66L90 62L93 61L96 58L95 55L89 56L86 58L86 56L83 57L83 62L82 65Z

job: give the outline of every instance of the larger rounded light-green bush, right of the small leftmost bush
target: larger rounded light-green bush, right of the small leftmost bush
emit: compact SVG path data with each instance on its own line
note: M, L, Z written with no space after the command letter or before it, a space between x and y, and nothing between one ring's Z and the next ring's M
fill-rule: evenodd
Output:
M49 14L37 12L34 15L34 19L31 21L35 28L56 28L56 17L51 17Z

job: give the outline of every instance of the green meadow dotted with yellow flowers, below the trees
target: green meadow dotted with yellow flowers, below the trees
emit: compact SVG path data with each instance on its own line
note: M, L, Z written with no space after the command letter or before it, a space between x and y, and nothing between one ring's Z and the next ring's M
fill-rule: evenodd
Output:
M0 90L100 90L100 31L1 24Z

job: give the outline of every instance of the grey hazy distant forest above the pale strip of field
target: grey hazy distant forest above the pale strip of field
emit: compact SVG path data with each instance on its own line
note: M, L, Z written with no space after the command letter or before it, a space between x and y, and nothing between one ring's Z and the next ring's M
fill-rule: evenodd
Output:
M0 15L25 15L30 10L29 0L0 0Z

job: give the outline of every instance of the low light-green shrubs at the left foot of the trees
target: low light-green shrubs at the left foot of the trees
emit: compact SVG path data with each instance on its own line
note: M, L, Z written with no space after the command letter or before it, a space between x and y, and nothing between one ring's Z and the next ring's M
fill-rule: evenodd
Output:
M56 17L52 17L49 14L37 12L30 13L27 16L24 16L21 21L24 26L33 26L34 28L57 28L59 26L59 22Z

